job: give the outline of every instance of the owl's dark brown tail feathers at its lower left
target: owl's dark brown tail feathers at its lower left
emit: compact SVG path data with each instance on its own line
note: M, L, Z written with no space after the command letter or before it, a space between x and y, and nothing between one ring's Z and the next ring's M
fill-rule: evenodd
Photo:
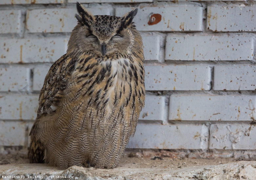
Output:
M30 163L44 163L45 149L35 136L31 137L28 156Z

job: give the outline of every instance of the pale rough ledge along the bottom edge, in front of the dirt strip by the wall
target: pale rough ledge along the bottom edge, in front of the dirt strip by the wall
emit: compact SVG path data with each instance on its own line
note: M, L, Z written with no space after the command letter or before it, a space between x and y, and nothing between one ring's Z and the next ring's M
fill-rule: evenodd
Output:
M136 158L132 158L133 161ZM200 165L184 166L180 164L180 160L173 159L158 159L151 160L149 167L140 166L137 158L136 163L122 162L115 169L94 169L72 166L67 170L49 167L45 164L8 164L0 165L0 179L86 179L86 180L144 180L144 179L163 179L163 180L181 180L181 179L256 179L256 161L237 161L218 165ZM187 159L188 160L188 159ZM200 161L200 159L197 159ZM170 161L174 166L170 165ZM195 160L196 161L196 160ZM205 160L210 161L210 160ZM146 161L143 161L146 162ZM156 163L154 163L156 162ZM162 162L162 163L161 163ZM169 163L169 166L161 166ZM216 162L215 162L216 163ZM221 162L219 162L221 163ZM156 166L154 166L154 164ZM179 167L176 165L180 164ZM192 164L192 163L190 163ZM206 164L206 163L205 163ZM134 165L134 166L133 166ZM10 177L12 176L12 177ZM14 177L20 176L20 177ZM22 176L22 177L21 177Z

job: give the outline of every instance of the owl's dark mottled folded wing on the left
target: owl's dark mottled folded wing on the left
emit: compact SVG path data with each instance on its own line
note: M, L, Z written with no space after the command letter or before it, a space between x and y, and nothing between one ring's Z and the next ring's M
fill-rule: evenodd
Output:
M74 67L74 58L72 59L67 55L63 55L53 63L40 92L37 116L44 113L50 114L55 110L56 102L63 95L62 92L67 86L67 81L70 79Z

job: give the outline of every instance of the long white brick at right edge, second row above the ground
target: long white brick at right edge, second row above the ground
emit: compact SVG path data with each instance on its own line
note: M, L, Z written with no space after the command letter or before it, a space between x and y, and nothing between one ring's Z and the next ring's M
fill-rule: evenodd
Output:
M256 96L171 95L169 120L251 121Z

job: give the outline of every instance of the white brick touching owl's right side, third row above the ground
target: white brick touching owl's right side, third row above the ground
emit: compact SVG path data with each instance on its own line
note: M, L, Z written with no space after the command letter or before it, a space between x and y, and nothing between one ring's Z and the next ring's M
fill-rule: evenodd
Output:
M210 90L207 65L145 65L146 90Z

